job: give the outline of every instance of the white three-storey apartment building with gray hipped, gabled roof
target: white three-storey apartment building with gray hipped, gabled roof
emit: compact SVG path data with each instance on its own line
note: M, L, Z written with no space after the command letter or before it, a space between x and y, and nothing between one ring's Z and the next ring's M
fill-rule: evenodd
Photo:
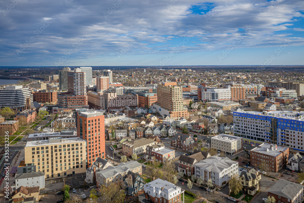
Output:
M202 176L204 180L220 187L224 181L238 175L238 162L227 157L211 156L195 164L195 177Z

